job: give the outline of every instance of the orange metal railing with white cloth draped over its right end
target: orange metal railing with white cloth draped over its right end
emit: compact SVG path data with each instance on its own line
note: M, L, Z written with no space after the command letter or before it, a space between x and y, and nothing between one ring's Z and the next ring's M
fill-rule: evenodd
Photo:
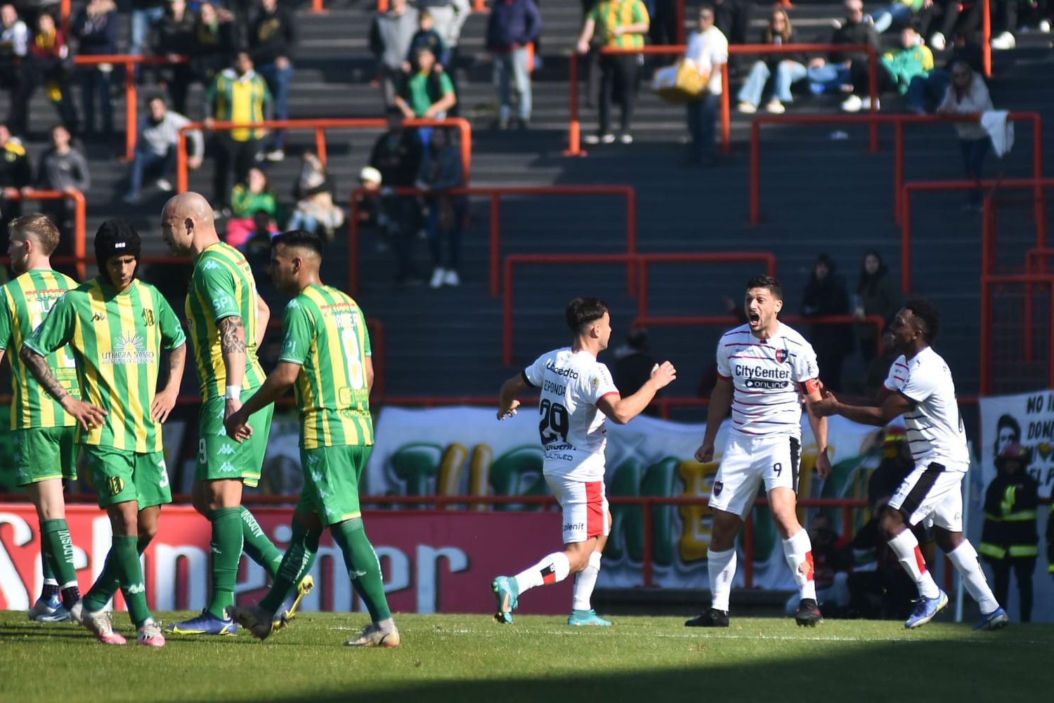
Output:
M904 183L904 124L933 122L977 121L978 115L762 115L750 125L750 171L749 200L750 223L761 220L761 125L762 124L868 124L891 123L894 128L894 217L901 214L901 194ZM1032 171L1033 178L1042 178L1042 117L1039 113L1013 112L1010 120L1032 122ZM875 151L872 142L872 151Z

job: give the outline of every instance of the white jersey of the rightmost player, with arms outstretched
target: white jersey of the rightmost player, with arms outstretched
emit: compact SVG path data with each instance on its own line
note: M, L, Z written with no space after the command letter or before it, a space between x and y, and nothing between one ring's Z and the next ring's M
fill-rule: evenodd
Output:
M885 388L912 403L903 417L916 465L936 462L949 471L970 468L955 382L940 354L926 347L910 359L900 355L890 367Z

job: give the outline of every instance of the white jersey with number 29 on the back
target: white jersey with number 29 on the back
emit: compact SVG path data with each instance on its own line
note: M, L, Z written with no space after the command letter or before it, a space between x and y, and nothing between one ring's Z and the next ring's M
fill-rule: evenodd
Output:
M542 389L543 472L574 481L602 481L607 437L605 416L597 403L605 395L619 394L611 372L589 352L564 347L539 356L524 369L524 378Z

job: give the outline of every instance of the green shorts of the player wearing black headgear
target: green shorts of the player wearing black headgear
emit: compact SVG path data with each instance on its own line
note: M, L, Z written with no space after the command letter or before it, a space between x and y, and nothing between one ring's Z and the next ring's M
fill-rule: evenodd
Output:
M92 445L84 450L100 508L128 501L137 501L140 510L172 503L162 452L139 453Z

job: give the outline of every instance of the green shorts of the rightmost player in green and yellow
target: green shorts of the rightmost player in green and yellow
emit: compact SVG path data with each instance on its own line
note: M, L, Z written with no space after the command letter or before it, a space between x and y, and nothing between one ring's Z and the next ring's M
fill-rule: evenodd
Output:
M370 461L373 447L346 445L300 449L304 490L296 504L298 512L318 514L323 525L358 518L358 480Z

